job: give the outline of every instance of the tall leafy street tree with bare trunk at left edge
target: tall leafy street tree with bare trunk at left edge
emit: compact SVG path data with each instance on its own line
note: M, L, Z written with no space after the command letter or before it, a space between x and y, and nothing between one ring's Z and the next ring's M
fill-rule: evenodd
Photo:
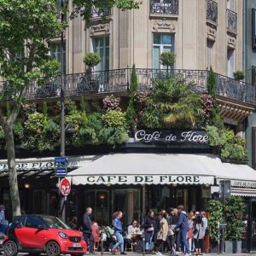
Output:
M67 3L67 0L62 0ZM137 8L133 0L73 0L73 15L90 19L93 6L99 9ZM67 6L67 5L66 5ZM64 5L65 7L65 5ZM9 166L9 191L13 215L20 214L20 197L15 167L14 124L26 100L29 84L44 84L59 72L59 63L49 56L50 38L60 36L67 26L60 14L66 12L55 0L0 0L0 101L11 102L0 108ZM44 79L42 79L42 77Z

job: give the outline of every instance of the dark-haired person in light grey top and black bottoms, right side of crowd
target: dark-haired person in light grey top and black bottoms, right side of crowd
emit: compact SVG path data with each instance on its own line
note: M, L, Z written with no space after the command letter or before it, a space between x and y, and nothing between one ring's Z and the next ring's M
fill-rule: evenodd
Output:
M195 241L195 255L202 255L201 247L202 242L205 238L205 228L202 221L201 215L197 215L195 218L195 227L194 227L194 241Z

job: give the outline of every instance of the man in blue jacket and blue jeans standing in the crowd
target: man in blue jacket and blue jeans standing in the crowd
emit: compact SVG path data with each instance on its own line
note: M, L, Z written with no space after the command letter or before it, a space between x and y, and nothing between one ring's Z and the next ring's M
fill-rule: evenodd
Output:
M187 256L190 254L189 245L187 241L187 233L189 231L188 215L187 212L184 211L183 205L177 207L177 212L179 212L179 218L176 229L180 229L181 251Z

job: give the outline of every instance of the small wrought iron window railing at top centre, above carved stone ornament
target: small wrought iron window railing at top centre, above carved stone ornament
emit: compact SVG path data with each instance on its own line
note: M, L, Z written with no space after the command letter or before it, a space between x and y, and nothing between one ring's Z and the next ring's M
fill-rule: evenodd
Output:
M177 15L178 0L151 0L151 15Z

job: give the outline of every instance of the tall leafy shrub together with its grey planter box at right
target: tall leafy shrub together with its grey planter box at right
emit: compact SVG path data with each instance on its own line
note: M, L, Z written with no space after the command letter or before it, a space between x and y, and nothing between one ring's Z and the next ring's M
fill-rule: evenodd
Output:
M224 218L227 223L225 253L241 253L242 212L245 205L239 196L231 196L224 203Z

